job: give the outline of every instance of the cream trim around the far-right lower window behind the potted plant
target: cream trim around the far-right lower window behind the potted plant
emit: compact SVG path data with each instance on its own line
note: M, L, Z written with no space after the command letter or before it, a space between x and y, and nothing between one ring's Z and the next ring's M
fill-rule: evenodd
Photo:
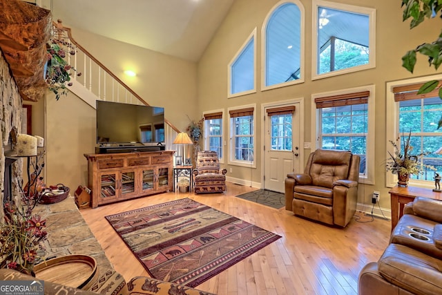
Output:
M393 82L387 82L387 86L386 86L386 107L385 107L385 111L387 114L386 117L386 124L387 126L389 126L389 128L387 129L386 132L386 138L385 138L385 161L390 158L390 155L388 154L388 152L390 153L394 153L394 148L393 146L390 144L390 140L392 140L393 142L396 140L396 138L398 137L398 129L399 129L399 117L398 117L398 108L399 108L399 102L395 102L394 101L394 91L393 88L396 87L401 87L401 86L407 86L407 85L411 85L411 84L418 84L418 83L425 83L428 82L430 80L442 80L442 74L439 75L430 75L430 76L425 76L425 77L417 77L417 78L411 78L411 79L402 79L402 80L398 80L398 81L393 81ZM423 97L425 98L425 97ZM385 165L383 165L383 167L385 168ZM398 182L398 177L397 175L393 175L393 173L391 173L391 171L385 171L385 186L386 187L394 187L396 186ZM413 187L424 187L424 188L428 188L428 189L434 189L434 182L430 182L427 180L416 180L416 179L412 179L410 178L410 181L408 182L411 186Z

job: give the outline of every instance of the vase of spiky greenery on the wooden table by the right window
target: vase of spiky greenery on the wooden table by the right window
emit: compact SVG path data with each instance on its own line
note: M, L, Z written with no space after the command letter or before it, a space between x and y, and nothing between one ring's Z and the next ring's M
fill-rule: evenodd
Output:
M401 138L398 138L396 142L390 140L394 148L394 153L388 152L390 159L387 161L387 171L392 171L393 174L398 175L398 186L407 187L410 175L418 175L423 173L423 168L436 170L433 166L421 163L421 158L427 155L427 153L413 154L413 146L410 143L411 132L405 136L402 136L402 144L398 142ZM402 145L402 146L401 146Z

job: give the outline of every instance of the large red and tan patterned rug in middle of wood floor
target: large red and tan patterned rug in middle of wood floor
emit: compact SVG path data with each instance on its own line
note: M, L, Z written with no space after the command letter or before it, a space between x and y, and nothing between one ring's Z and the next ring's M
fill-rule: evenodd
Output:
M106 219L153 278L189 287L280 238L189 198Z

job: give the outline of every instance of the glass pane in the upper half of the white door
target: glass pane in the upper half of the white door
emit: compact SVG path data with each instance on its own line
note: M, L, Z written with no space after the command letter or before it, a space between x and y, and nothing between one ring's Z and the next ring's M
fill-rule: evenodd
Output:
M271 149L274 151L291 151L291 114L271 116Z

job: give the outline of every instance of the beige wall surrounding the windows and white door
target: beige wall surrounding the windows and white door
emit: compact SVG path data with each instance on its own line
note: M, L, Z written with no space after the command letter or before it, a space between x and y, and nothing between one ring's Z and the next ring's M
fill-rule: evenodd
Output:
M419 57L419 64L414 75L401 68L401 57L407 50L422 44L423 41L433 41L440 33L440 20L423 23L410 31L409 24L402 22L401 1L361 0L358 6L376 8L376 68L357 73L329 77L326 79L311 80L311 20L312 6L310 0L300 1L305 8L305 82L294 86L287 86L269 91L260 91L261 69L261 29L265 17L277 0L256 1L237 0L233 3L229 15L222 23L204 56L198 64L198 107L200 112L214 109L256 104L257 138L256 159L261 159L262 141L260 138L261 119L263 114L261 104L277 102L278 100L303 97L305 102L304 126L302 133L305 142L312 142L311 138L311 95L327 91L338 91L345 88L374 84L376 86L376 177L375 185L365 185L359 189L358 202L370 203L369 195L373 190L381 191L381 207L390 208L388 189L385 187L385 83L407 77L433 74L434 69L428 68L427 61ZM334 1L355 5L356 1ZM436 26L434 25L436 22ZM227 98L227 65L238 53L247 37L254 28L257 28L257 93L242 97ZM226 117L227 118L227 117ZM224 130L227 131L227 120L224 120ZM228 133L226 133L228 134ZM229 139L226 138L229 142ZM227 146L226 146L227 148ZM310 153L305 150L305 158ZM228 153L227 149L226 152ZM231 166L233 173L229 177L247 179L253 182L262 182L260 179L262 163L258 160L257 168L251 169ZM227 169L229 171L229 169ZM251 176L252 175L252 176Z

